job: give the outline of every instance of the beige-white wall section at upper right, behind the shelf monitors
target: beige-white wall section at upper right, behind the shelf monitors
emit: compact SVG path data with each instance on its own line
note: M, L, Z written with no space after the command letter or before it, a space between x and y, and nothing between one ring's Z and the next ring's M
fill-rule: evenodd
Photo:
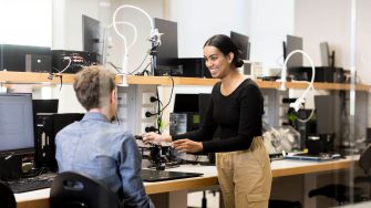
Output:
M336 51L336 66L350 69L350 0L296 0L295 35L303 38L303 50L320 66L320 42ZM303 60L309 65L307 60Z

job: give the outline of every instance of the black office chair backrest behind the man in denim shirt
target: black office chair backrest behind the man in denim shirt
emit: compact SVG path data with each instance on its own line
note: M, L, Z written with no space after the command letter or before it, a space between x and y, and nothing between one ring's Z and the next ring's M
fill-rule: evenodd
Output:
M51 208L122 208L118 196L103 183L74 171L59 174L50 190Z

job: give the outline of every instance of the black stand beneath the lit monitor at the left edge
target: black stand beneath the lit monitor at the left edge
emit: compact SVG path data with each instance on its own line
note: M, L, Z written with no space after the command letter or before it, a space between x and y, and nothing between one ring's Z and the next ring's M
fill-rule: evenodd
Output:
M14 180L22 177L22 156L0 156L0 179Z

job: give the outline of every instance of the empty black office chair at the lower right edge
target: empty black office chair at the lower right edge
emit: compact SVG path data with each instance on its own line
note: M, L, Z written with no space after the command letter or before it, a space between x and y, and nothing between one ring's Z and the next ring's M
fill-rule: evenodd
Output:
M371 183L371 176L368 175L371 167L371 145L365 147L362 152L359 166L363 169L364 176L358 176L354 178L354 184L358 183ZM352 191L351 191L352 190ZM350 195L353 193L353 195ZM367 196L367 191L360 187L350 187L346 185L331 184L309 191L309 197L326 196L338 201L339 205L343 205L353 199L354 202L369 200L370 196Z

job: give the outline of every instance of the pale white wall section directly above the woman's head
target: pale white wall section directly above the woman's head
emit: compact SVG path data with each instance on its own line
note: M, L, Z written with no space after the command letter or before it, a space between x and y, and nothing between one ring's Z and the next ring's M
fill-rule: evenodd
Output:
M214 34L230 30L248 33L248 2L246 0L173 0L171 20L178 23L178 55L202 58L205 41Z

